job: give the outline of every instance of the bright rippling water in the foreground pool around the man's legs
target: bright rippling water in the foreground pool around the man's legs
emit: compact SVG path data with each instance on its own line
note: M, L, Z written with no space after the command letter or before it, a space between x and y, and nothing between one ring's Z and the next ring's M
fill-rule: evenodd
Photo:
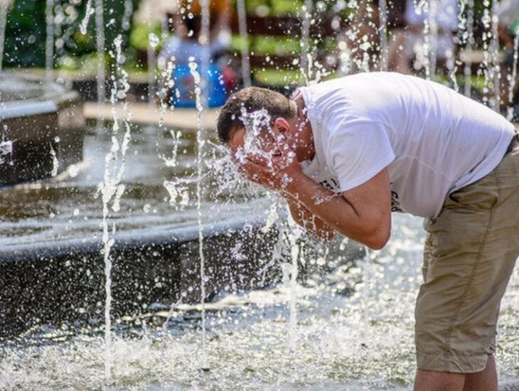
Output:
M119 319L112 380L99 331L34 330L1 352L0 388L110 390L407 390L414 376L413 308L421 279L422 221L395 215L392 239L355 264L297 289L296 350L289 351L284 286L208 304L201 370L200 313L178 306ZM307 261L309 261L307 259ZM319 260L322 262L322 259ZM519 377L519 271L501 308L498 370Z

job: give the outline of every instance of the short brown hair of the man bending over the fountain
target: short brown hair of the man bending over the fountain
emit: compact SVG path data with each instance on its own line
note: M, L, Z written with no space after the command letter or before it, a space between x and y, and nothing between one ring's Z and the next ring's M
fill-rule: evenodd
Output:
M260 87L244 88L229 97L218 116L216 129L218 130L218 138L223 143L228 143L232 132L243 127L240 119L242 108L245 108L247 112L265 109L272 121L279 117L290 119L295 114L291 110L289 99L279 92Z

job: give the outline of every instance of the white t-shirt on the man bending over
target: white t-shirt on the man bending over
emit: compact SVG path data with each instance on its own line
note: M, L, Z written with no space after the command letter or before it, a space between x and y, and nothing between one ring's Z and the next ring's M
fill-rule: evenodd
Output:
M436 82L360 73L301 87L316 154L303 171L333 191L387 167L392 210L435 218L446 195L503 158L514 127Z

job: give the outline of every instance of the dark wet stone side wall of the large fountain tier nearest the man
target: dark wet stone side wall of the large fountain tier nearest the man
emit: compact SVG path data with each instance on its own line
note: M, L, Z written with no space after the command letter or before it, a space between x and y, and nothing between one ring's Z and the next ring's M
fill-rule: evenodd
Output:
M259 223L259 222L258 222ZM248 229L244 229L244 225ZM207 296L256 289L279 281L272 264L276 235L250 222L204 227ZM112 315L135 316L153 304L200 301L198 228L138 230L114 235L110 252ZM240 246L240 257L232 249ZM14 245L0 250L0 340L38 326L95 325L104 314L103 244L94 238Z

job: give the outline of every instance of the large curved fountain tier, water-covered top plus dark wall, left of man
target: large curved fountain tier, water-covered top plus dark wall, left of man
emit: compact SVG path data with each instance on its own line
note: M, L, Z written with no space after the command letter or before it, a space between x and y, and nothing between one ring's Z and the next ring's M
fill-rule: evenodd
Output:
M73 169L1 189L0 339L46 326L103 324L98 185L112 146L111 129L112 124L85 129L83 160ZM180 134L180 139L171 134ZM172 205L164 186L165 181L195 178L195 136L193 129L132 126L126 190L121 209L110 209L109 215L110 232L112 224L117 228L110 233L114 318L201 299L195 183L188 185L191 198L184 206ZM173 166L168 159L175 148ZM205 299L279 282L281 264L272 261L277 232L262 230L272 202L257 192L218 195L216 187L209 179L203 186Z

